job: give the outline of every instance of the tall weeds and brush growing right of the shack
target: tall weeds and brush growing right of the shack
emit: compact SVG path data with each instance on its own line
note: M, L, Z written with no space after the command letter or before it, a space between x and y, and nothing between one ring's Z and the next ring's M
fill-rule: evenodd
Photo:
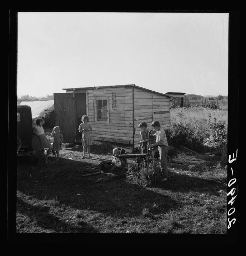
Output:
M227 143L227 111L204 107L171 109L170 145L186 145L202 150L205 144L224 146Z

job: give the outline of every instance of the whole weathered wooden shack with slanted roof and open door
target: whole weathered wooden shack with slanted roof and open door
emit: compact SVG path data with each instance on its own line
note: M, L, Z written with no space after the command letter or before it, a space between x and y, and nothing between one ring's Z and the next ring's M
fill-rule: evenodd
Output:
M95 144L109 141L117 146L136 148L140 143L140 122L158 120L161 127L170 127L170 95L151 91L135 84L65 88L54 93L55 125L64 135L64 142L81 142L78 128L81 116L87 115Z

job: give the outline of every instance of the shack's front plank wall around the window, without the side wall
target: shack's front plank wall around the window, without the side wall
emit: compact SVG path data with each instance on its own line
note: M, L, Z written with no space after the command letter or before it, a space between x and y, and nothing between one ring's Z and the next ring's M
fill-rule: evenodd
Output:
M77 91L81 92L81 91ZM113 95L114 94L114 102ZM94 88L87 91L88 117L92 126L92 142L110 141L112 143L133 144L132 88ZM95 97L108 97L109 124L96 120Z

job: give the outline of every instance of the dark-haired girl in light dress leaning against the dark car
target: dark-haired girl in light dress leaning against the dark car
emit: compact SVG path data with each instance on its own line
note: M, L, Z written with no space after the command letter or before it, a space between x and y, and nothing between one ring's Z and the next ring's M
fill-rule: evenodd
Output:
M49 140L47 140L47 137L44 133L44 128L42 127L43 124L44 124L44 120L42 120L41 118L38 118L36 120L36 126L32 128L32 133L39 137L39 145L36 145L37 148L33 150L43 149L43 158L45 160L45 163L48 163L48 156L50 154L50 151L53 149L53 146L50 144ZM33 145L33 148L34 148L34 145ZM44 155L45 148L49 148L46 156Z

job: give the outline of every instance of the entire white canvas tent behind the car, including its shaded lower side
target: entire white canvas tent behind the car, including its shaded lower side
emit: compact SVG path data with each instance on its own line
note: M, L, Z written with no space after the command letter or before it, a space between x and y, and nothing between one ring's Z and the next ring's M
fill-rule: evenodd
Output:
M22 101L20 105L28 105L32 110L32 119L38 118L54 123L54 100L49 101Z

